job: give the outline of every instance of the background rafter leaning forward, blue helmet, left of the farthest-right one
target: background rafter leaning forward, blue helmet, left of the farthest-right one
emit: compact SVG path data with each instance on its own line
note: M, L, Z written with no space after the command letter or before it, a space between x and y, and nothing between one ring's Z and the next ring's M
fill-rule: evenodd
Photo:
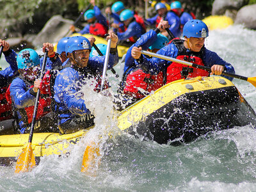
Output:
M157 3L155 6L157 15L147 19L147 23L150 24L150 26L154 26L159 24L161 20L167 20L170 25L170 31L175 37L180 36L180 18L177 14L175 14L172 11L167 11L165 4L163 3ZM163 35L168 36L168 33L163 33Z

